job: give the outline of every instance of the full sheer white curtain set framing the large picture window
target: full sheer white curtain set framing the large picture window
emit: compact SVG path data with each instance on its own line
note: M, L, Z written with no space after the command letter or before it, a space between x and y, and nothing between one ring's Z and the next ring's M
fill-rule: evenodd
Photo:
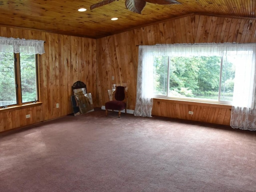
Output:
M225 56L236 55L236 76L232 117L233 128L256 130L256 44L171 44L139 46L135 116L151 116L153 98L153 56Z

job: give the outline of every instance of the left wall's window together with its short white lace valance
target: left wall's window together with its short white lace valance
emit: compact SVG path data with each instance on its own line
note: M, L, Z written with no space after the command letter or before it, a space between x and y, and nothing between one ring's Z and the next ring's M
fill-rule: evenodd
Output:
M38 101L38 54L44 41L0 37L0 108Z

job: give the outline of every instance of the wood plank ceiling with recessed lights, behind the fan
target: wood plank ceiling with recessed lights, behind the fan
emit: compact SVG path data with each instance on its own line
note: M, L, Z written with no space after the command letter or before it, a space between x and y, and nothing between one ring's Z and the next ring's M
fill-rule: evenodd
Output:
M127 10L125 0L90 10L90 6L98 2L101 0L0 0L0 25L97 39L191 13L256 19L256 0L147 3L141 15ZM87 11L78 12L79 8ZM113 17L118 20L110 20Z

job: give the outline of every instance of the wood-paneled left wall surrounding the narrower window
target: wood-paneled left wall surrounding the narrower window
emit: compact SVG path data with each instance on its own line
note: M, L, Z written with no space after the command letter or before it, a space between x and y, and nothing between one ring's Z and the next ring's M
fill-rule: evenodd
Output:
M99 104L96 40L28 30L0 27L0 36L44 40L45 54L39 56L39 92L42 105L0 112L0 132L72 113L70 96L74 82L83 81ZM2 78L2 77L1 77ZM59 103L59 108L56 108ZM26 114L30 118L26 119Z

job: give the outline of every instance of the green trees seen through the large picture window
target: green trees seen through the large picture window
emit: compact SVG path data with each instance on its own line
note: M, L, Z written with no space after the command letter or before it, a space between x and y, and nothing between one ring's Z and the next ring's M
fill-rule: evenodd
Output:
M154 56L156 97L232 101L234 56Z

